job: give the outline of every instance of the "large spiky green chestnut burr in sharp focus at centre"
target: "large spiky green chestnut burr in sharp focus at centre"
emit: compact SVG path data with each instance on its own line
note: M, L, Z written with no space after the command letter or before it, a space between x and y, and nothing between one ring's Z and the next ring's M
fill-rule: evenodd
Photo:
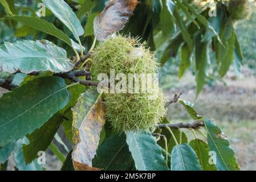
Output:
M115 73L156 73L158 64L155 54L140 44L139 40L117 35L101 43L92 54L92 71L97 76L110 70ZM140 84L141 88L141 84ZM166 114L166 97L162 90L155 90L155 99L149 99L151 93L108 93L104 94L106 117L113 129L123 131L154 130L157 123Z

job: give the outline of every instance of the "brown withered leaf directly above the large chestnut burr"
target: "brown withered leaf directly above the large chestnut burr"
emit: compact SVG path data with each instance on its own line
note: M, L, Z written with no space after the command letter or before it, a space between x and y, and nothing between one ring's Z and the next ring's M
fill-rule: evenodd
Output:
M94 19L94 35L97 40L104 41L109 35L123 29L124 24L132 16L137 0L113 0Z

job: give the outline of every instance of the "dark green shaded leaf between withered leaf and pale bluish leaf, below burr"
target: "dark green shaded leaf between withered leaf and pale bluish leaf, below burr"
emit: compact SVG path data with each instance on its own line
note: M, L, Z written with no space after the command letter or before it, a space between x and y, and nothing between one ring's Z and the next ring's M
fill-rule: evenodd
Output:
M97 150L92 166L105 171L129 170L133 162L131 152L125 141L125 135L109 137Z

